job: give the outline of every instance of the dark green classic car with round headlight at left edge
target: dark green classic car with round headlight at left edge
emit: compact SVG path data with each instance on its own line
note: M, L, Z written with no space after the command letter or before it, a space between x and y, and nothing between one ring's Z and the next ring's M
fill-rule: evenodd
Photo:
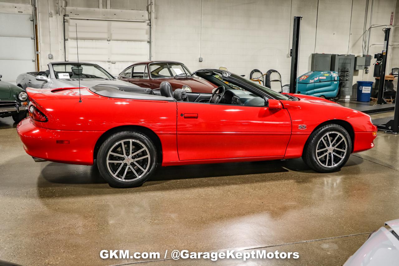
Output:
M18 123L26 117L27 112L28 95L26 92L22 88L0 79L0 117L12 116L12 119Z

